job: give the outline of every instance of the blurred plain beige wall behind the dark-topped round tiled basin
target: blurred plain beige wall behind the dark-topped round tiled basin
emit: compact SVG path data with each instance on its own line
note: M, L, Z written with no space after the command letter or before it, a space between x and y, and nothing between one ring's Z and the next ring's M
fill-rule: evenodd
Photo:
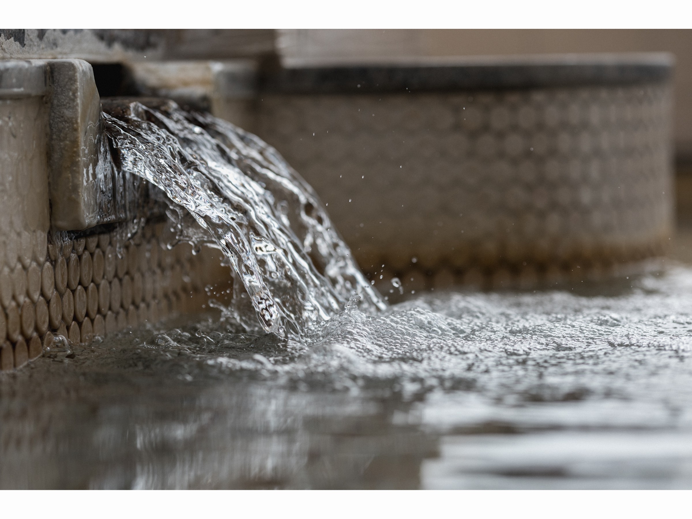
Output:
M692 30L650 29L300 29L280 30L286 62L387 61L556 53L666 51L675 55L675 154L692 166Z

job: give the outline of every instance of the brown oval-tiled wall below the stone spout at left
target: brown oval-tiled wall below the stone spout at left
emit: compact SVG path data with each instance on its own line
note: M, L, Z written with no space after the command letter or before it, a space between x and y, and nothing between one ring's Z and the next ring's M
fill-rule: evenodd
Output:
M9 233L0 258L0 369L42 355L60 334L88 343L171 313L201 309L204 288L218 276L218 260L172 249L147 224L116 251L116 235L100 233L48 243L46 233ZM212 267L204 264L211 260ZM209 279L208 279L209 278Z

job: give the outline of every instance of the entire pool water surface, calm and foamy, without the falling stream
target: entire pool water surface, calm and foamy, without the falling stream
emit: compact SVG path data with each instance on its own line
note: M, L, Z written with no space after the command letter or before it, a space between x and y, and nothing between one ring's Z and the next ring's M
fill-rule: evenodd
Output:
M692 268L600 294L352 305L302 343L207 316L57 349L0 376L0 486L690 488Z

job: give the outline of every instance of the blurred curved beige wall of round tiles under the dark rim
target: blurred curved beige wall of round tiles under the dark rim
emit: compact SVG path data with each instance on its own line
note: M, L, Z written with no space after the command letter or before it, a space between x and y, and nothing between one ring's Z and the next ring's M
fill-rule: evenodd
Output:
M258 106L258 134L313 185L378 284L533 286L668 243L666 84L263 95Z

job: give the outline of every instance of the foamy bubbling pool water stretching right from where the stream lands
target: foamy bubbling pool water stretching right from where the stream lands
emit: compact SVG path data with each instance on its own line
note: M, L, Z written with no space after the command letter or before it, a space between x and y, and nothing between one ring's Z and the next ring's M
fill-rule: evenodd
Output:
M498 413L536 402L628 401L623 413L657 408L666 424L675 410L670 419L692 424L692 269L630 283L614 296L426 295L378 315L349 303L300 343L266 354L271 367L233 355L208 363L336 387L397 381L415 391L470 391Z

